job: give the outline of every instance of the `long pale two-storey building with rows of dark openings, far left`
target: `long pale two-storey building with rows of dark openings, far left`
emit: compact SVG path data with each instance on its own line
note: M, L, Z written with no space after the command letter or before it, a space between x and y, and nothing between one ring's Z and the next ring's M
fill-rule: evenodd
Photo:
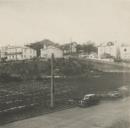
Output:
M1 48L1 58L11 60L26 60L36 57L36 51L25 46L6 46Z

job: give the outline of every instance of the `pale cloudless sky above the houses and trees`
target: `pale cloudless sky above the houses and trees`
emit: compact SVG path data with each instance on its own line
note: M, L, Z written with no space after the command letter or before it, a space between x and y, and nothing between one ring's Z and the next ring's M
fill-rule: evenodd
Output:
M0 46L130 43L130 0L0 0Z

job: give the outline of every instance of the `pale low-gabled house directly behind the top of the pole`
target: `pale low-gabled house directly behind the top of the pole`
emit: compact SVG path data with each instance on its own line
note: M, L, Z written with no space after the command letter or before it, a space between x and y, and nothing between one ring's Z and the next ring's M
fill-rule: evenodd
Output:
M63 50L56 46L43 46L41 49L41 58L51 58L52 54L55 58L62 58Z

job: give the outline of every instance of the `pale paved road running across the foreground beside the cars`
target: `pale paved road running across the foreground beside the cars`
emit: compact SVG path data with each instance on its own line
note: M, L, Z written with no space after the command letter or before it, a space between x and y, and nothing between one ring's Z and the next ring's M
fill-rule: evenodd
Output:
M71 108L17 121L0 128L105 128L117 120L130 120L130 98L107 101L89 108Z

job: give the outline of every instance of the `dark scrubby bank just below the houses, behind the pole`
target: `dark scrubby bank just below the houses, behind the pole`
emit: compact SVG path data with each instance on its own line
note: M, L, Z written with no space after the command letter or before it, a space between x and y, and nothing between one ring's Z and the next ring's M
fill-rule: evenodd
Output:
M86 64L78 59L55 59L54 73L57 76L76 76L86 73L92 69L91 64ZM39 59L32 61L20 61L17 63L5 63L0 65L0 80L35 80L50 76L50 60L41 61Z

